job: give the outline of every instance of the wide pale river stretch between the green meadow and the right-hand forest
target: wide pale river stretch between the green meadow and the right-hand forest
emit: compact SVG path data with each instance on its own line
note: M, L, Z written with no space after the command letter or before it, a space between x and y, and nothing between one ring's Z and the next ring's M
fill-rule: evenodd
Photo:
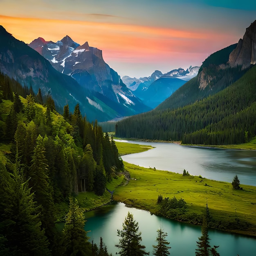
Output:
M154 149L122 156L128 163L158 170L201 175L211 180L232 182L238 175L240 184L256 186L256 150L226 150L180 146L174 143L126 141L151 145Z

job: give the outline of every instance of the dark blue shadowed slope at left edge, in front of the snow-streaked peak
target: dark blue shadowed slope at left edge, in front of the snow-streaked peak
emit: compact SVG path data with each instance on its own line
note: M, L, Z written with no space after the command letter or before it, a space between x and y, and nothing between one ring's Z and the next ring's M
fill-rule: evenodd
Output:
M60 74L43 56L9 34L0 26L0 72L23 86L31 86L35 94L41 89L43 96L51 94L56 106L70 109L87 96L77 93L80 85L69 76ZM83 109L85 110L85 109Z

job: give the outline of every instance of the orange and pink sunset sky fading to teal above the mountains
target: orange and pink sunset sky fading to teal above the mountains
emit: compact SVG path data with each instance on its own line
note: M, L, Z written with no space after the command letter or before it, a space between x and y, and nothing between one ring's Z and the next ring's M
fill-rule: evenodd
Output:
M88 41L121 77L200 66L254 20L255 0L0 0L0 25L18 40Z

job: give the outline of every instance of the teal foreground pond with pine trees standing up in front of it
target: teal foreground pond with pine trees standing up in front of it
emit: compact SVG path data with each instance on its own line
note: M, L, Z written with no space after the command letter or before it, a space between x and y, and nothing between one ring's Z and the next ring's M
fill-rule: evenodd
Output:
M99 245L100 237L108 248L108 252L114 256L119 252L115 244L119 243L117 229L122 229L124 218L128 211L133 214L134 220L139 223L141 231L142 245L146 246L146 252L153 255L152 245L156 245L157 229L160 227L167 232L167 240L170 242L169 252L172 256L194 256L196 241L201 236L201 227L189 225L155 215L150 215L148 211L135 208L128 208L123 203L117 203L106 207L101 207L95 211L87 213L87 223L85 230L90 236L90 241ZM93 215L93 216L92 216ZM211 246L219 245L218 253L221 256L255 256L256 239L209 230Z

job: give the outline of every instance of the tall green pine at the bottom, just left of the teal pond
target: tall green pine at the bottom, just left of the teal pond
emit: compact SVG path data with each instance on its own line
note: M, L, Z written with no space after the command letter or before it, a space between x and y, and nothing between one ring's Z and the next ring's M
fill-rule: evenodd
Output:
M70 197L70 207L63 229L63 255L90 255L90 243L84 230L85 218L78 201Z

